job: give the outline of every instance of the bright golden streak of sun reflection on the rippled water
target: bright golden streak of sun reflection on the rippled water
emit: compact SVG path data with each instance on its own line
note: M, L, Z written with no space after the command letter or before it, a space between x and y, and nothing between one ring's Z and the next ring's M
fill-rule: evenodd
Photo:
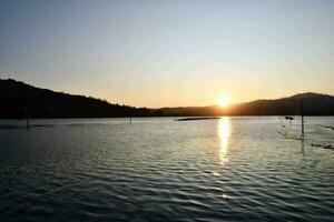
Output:
M220 164L228 162L228 142L230 135L230 122L228 117L224 117L218 123L218 138L220 140L219 160Z

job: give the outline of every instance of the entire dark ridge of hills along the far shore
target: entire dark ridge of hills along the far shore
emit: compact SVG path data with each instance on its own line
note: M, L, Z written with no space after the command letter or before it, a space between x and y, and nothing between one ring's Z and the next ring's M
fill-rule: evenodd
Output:
M106 100L72 95L36 88L16 80L0 79L0 118L120 118L204 115L334 115L334 97L314 92L276 100L255 100L232 104L187 108L134 108Z

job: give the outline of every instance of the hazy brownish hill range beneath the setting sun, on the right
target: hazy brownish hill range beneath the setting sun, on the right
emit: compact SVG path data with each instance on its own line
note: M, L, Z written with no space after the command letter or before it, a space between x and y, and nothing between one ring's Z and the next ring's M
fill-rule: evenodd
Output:
M298 115L303 100L306 115L334 115L334 97L313 92L295 94L276 100L255 100L232 104L189 108L161 108L155 112L161 115Z

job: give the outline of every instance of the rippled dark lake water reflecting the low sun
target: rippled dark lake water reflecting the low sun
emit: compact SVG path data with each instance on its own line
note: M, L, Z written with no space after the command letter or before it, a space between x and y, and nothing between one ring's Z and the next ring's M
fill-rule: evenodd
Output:
M334 221L334 118L0 120L0 221Z

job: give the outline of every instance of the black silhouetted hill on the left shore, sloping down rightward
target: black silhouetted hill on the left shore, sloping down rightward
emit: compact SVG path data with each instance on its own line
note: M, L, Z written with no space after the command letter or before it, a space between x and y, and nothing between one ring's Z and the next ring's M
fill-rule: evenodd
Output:
M106 100L36 88L0 79L0 118L146 117L149 110L111 104Z

